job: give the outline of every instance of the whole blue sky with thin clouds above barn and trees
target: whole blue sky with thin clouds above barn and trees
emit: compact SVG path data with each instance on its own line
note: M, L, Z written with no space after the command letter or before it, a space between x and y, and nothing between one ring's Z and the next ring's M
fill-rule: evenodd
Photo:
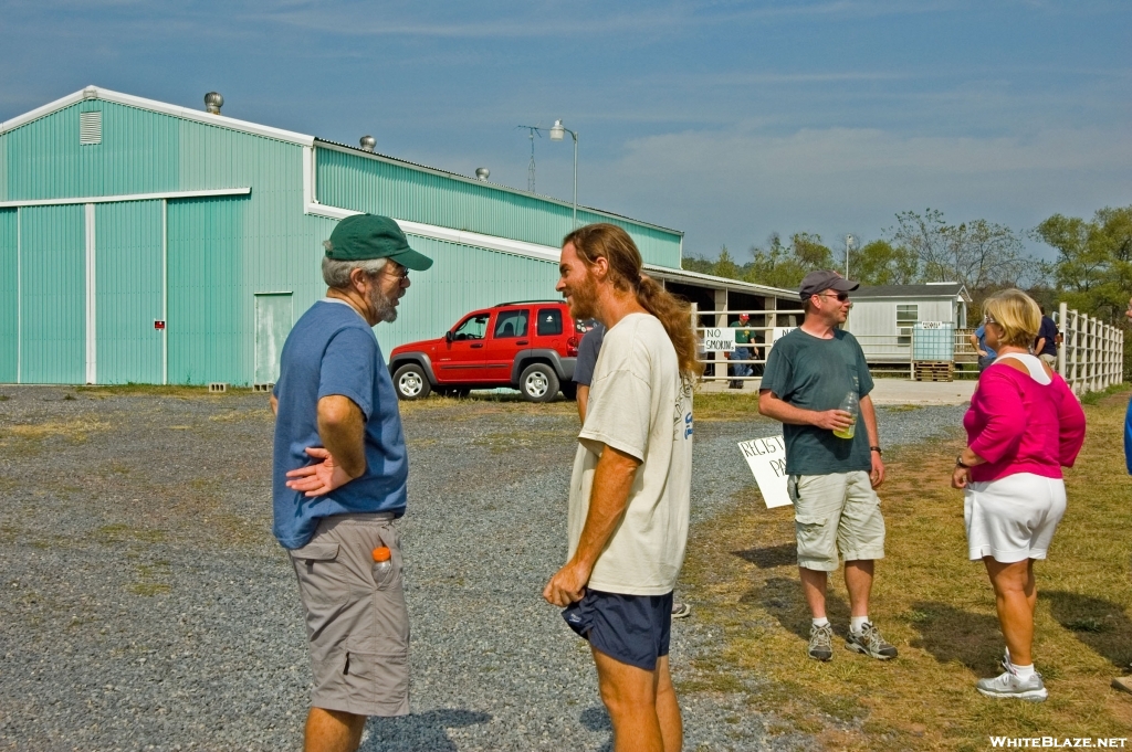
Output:
M740 260L904 209L1026 231L1132 204L1132 3L0 0L0 120L87 84L578 200ZM568 142L535 140L569 200ZM1037 253L1047 249L1031 243Z

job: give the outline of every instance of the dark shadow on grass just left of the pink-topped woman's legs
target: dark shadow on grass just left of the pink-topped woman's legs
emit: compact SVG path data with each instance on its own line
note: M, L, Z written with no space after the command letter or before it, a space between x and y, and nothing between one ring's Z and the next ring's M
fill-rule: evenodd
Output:
M984 675L996 668L1002 656L1002 632L990 614L974 614L937 600L912 604L908 616L920 636L914 648L932 654L940 663L958 660Z

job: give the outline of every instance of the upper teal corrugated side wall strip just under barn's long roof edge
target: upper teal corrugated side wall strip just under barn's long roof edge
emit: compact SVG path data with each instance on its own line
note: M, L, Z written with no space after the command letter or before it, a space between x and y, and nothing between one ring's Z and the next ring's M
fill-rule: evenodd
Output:
M316 161L318 200L329 206L552 248L572 228L572 207L534 196L336 149L318 148ZM611 222L633 236L646 263L680 266L677 233L581 208L577 221L583 225Z

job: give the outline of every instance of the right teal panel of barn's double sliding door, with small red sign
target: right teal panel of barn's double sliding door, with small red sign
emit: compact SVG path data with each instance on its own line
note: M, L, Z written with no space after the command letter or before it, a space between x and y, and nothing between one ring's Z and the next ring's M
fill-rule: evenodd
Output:
M95 205L98 383L161 383L161 201Z

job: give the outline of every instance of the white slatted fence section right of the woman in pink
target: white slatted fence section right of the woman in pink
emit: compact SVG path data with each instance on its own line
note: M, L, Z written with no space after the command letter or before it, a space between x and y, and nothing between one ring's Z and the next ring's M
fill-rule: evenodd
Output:
M1124 331L1091 316L1066 309L1057 311L1062 346L1057 349L1057 372L1073 391L1106 389L1124 380Z

